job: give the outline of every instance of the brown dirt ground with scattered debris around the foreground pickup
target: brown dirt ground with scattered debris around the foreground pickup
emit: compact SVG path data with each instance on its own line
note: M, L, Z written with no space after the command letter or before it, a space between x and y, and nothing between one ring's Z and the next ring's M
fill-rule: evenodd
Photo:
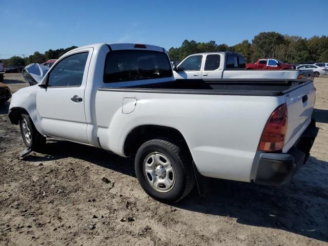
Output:
M12 92L28 86L5 77ZM293 180L272 188L217 180L174 206L140 188L133 161L48 139L26 160L0 107L0 245L328 245L328 77L315 79L319 135ZM102 181L106 177L110 182Z

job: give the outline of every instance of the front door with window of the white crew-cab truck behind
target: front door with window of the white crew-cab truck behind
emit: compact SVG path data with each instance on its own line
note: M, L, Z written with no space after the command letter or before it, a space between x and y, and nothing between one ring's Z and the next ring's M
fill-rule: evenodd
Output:
M202 55L191 55L182 61L181 64L178 65L177 70L174 71L175 79L182 78L194 78L200 79L201 73L201 61Z

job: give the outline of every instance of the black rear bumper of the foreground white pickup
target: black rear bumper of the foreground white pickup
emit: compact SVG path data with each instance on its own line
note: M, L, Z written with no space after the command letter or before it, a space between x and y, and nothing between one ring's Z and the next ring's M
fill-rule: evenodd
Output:
M291 180L310 156L314 139L318 135L316 121L301 135L288 153L259 153L255 183L268 186L280 186Z

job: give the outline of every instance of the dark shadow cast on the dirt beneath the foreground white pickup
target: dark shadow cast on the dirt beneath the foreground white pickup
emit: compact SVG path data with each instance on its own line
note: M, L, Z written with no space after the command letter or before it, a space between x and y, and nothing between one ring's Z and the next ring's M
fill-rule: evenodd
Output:
M43 153L46 156L31 155L26 160L46 161L74 157L135 177L132 160L97 148L64 140L49 140ZM300 172L308 172L308 165L311 175L302 174L300 178L300 174L297 174L293 181L281 187L211 179L211 192L199 197L197 189L194 189L175 207L236 218L240 224L280 229L327 242L328 193L312 177L322 177L320 170L328 162L310 157Z

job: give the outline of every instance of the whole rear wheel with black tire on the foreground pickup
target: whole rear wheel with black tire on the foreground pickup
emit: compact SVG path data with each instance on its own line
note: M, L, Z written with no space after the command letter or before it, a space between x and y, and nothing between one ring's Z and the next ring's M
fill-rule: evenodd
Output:
M135 157L135 172L142 189L163 203L181 200L195 185L191 155L187 147L173 139L159 137L141 145ZM156 188L151 179L161 184ZM168 187L163 183L169 184Z

